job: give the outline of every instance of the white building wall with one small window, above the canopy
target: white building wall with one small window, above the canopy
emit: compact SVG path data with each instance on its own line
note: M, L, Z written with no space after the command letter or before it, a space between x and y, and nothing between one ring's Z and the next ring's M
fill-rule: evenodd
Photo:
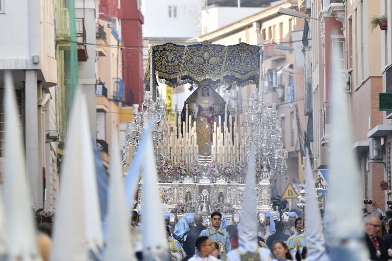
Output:
M197 36L202 5L203 0L142 0L143 37ZM169 6L177 7L176 18L169 18Z

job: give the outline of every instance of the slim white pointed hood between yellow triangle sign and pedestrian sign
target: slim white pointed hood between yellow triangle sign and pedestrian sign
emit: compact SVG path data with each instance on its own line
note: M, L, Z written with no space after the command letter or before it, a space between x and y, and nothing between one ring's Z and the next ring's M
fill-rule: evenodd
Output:
M327 261L325 254L325 240L323 225L319 211L319 203L315 187L314 171L310 166L309 153L306 149L306 204L305 220L306 222L306 247L308 250L307 261Z

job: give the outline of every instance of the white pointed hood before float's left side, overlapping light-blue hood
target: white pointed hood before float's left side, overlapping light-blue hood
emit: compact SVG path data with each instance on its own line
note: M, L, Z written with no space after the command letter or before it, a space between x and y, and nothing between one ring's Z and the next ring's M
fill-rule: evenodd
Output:
M161 200L158 190L158 178L152 138L145 132L147 147L143 164L143 259L151 261L169 261L169 251L165 224L162 218ZM147 225L148 224L148 225Z

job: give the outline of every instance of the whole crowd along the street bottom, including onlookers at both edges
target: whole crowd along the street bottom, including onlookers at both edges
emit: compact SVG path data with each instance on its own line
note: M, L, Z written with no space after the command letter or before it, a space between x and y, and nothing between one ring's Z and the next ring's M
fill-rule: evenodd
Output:
M384 213L377 204L373 203L373 206L376 208L374 213L363 209L363 225L370 260L392 261L392 210ZM34 215L38 228L39 251L43 260L48 260L54 213L39 209ZM169 213L163 215L173 261L230 260L228 253L238 251L241 223L231 223L219 212L212 213L210 217L211 226L207 228L207 219L203 219L201 214L187 214L177 220L175 225L171 224ZM268 260L305 260L306 236L302 226L302 218L295 212L288 214L286 222L276 220L270 212L264 213L264 220L259 220L258 244L269 251ZM130 228L136 257L143 260L142 211L132 211Z

